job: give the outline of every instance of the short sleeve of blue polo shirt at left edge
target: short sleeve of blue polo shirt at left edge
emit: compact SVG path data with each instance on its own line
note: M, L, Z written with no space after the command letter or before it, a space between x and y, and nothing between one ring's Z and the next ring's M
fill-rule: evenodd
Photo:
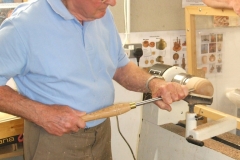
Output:
M0 85L19 74L26 66L26 49L11 19L0 27Z

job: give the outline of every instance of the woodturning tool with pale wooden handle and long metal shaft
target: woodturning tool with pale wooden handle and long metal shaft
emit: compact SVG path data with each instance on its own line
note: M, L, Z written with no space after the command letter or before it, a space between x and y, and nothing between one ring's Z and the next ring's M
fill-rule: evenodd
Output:
M193 92L194 89L189 89L189 93ZM156 97L156 98L151 98L148 100L144 100L141 102L131 102L131 103L119 103L119 104L114 104L112 106L100 109L98 111L86 114L84 116L82 116L81 118L85 121L92 121L92 120L96 120L96 119L101 119L101 118L108 118L108 117L113 117L113 116L117 116L117 115L121 115L123 113L126 113L128 111L130 111L131 109L136 108L137 106L141 106L144 104L148 104L151 102L155 102L158 100L162 100L161 97Z

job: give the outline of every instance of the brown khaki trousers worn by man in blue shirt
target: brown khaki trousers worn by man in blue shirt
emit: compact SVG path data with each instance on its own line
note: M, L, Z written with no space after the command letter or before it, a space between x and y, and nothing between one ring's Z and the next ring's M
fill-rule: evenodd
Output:
M112 160L110 119L63 136L25 120L23 145L25 160Z

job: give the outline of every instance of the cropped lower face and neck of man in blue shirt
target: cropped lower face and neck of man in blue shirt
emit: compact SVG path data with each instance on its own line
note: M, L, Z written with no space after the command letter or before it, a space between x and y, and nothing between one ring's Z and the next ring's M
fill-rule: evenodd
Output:
M116 5L116 0L62 0L62 2L81 22L102 18L109 5Z

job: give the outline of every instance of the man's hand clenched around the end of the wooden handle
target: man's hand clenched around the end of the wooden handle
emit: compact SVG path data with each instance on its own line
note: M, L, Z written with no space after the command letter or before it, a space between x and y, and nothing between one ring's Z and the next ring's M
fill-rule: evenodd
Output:
M85 114L85 112L79 112L68 106L50 105L41 110L36 123L48 133L61 136L85 128L86 124L81 119L81 116Z

